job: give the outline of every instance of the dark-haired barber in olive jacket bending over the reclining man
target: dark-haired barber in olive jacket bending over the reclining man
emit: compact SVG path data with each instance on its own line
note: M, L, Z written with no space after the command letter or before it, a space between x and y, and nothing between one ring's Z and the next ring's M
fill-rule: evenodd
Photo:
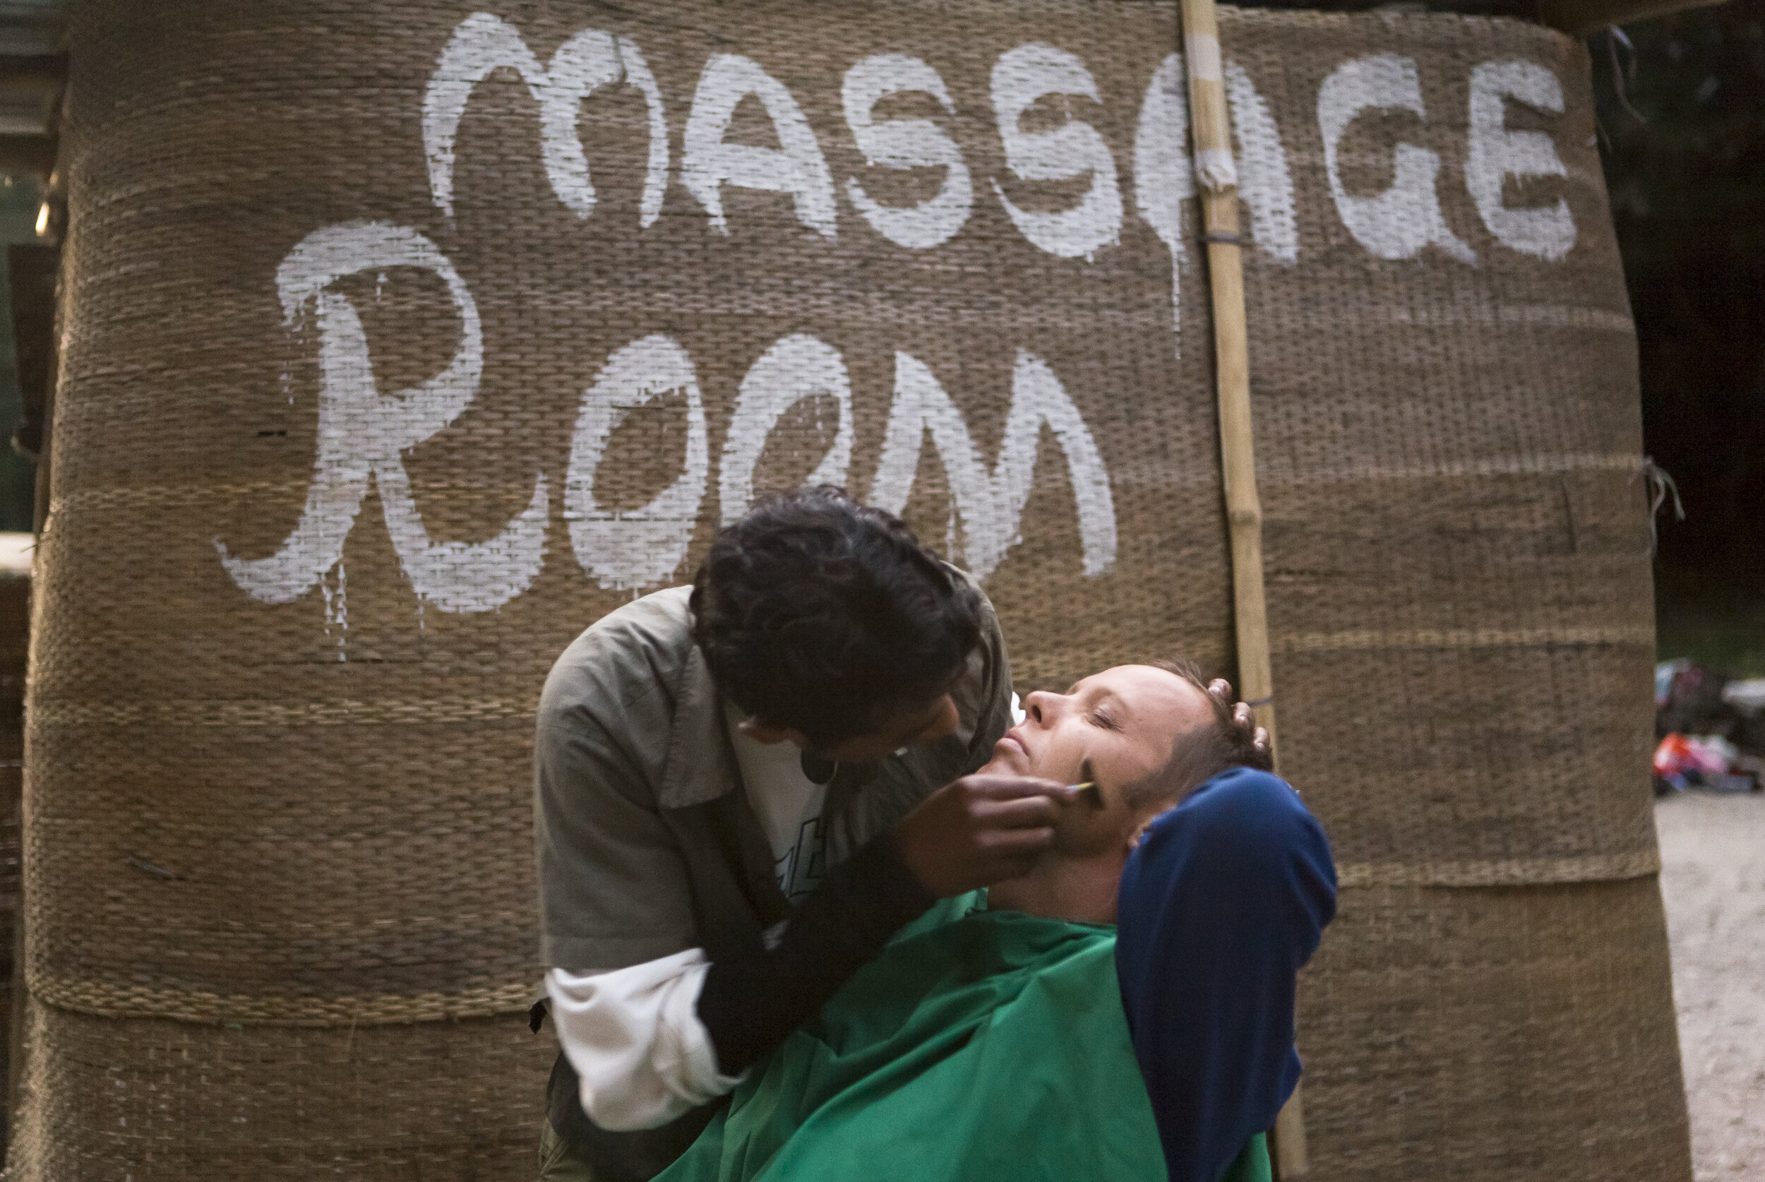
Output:
M971 774L1011 722L973 579L835 489L577 637L535 744L542 1177L653 1177L897 928L1029 870L1064 789Z

